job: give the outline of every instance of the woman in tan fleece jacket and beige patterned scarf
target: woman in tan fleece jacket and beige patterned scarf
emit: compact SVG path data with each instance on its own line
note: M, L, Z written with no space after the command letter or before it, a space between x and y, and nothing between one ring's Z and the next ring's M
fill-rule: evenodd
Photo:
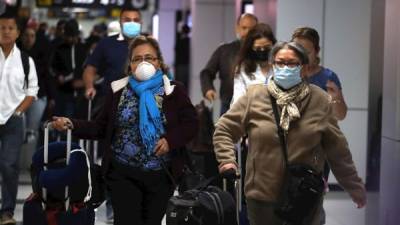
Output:
M275 45L271 50L274 74L268 84L250 87L216 125L214 149L220 172L237 169L234 143L248 134L245 195L251 225L283 223L274 212L287 168L278 126L285 137L288 164L312 167L323 183L321 173L327 160L339 184L357 207L366 204L364 184L337 125L331 98L322 89L305 82L300 75L307 61L307 54L299 44ZM275 119L273 102L276 102L279 120ZM305 205L307 201L304 201ZM302 215L306 220L304 223L296 224L319 224L320 203L318 199L314 210Z

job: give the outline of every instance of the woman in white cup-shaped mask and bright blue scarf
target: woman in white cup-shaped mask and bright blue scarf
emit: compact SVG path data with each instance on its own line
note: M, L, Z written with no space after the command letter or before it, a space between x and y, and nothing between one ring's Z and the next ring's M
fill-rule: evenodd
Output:
M138 36L128 53L126 76L111 83L102 113L92 122L54 118L80 138L105 138L103 168L114 224L160 225L174 187L164 166L182 173L179 151L196 134L196 111L182 84L165 74L157 41ZM163 165L164 164L164 165Z

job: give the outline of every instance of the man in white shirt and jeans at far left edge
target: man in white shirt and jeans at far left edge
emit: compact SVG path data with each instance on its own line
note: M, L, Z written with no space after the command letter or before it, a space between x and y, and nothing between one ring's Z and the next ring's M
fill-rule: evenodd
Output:
M15 41L20 34L16 16L0 15L0 224L16 224L14 210L18 192L19 156L24 141L24 113L38 92L35 64L23 59ZM25 53L26 54L26 53ZM25 74L23 60L29 63Z

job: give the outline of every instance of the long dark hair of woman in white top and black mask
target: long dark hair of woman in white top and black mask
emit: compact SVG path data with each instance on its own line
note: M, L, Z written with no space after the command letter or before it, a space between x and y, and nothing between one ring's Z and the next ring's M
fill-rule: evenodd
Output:
M257 63L252 60L249 55L250 51L253 48L253 44L257 39L266 38L272 42L274 45L276 43L276 38L274 33L272 32L271 27L265 23L257 24L253 29L249 31L247 37L245 38L242 47L239 50L239 57L237 62L235 63L234 74L237 75L240 73L242 66L244 67L244 71L247 76L253 78L252 74L257 69Z

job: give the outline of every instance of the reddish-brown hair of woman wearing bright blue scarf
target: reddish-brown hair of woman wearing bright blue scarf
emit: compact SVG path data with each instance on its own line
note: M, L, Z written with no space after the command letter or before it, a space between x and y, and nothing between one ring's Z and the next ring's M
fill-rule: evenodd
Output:
M129 76L131 73L130 64L131 64L133 50L135 50L136 47L138 47L140 45L144 45L144 44L149 44L151 47L153 47L156 50L157 58L158 58L158 61L160 62L160 68L164 74L168 74L169 68L164 63L164 58L161 53L161 48L160 48L160 45L158 44L157 40L150 36L144 36L144 35L135 37L133 39L132 43L129 45L128 58L125 63L125 74Z

